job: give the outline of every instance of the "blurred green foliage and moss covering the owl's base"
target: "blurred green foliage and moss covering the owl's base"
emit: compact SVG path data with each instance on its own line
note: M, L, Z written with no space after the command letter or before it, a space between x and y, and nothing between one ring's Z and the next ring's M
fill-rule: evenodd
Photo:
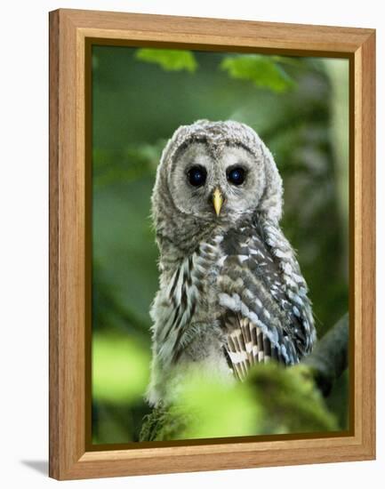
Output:
M245 383L229 387L195 371L176 403L149 413L142 441L245 437L333 431L339 425L315 387L309 367L254 367Z

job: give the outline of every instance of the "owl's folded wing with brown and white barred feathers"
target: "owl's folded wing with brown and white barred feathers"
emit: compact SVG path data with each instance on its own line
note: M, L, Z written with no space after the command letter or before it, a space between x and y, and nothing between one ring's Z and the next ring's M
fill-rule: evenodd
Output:
M254 364L298 363L315 340L307 286L293 249L271 222L232 229L221 244L218 277L225 355L244 379Z

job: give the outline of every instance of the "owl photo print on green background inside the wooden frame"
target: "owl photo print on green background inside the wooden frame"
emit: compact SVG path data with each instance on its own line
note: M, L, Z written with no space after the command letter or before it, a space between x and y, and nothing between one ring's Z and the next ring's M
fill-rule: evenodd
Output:
M90 69L92 444L348 432L349 60Z

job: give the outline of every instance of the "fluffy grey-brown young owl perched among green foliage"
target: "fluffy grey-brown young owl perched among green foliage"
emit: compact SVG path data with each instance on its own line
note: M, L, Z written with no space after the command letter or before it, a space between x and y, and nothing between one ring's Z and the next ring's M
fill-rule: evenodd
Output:
M151 405L175 400L191 366L244 381L253 365L294 365L309 354L316 330L279 226L282 180L251 127L180 126L164 148L151 203L160 253Z

